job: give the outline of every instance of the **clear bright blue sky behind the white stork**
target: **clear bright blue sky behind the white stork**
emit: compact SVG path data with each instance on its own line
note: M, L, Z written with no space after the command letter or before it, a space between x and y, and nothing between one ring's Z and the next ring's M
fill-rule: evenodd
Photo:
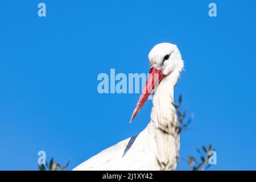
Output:
M47 6L39 18L38 3ZM185 71L175 90L195 114L181 134L181 164L213 143L210 169L256 169L256 2L0 1L0 169L37 169L38 151L72 169L138 134L147 101L139 94L98 94L97 76L147 73L147 55L177 44Z

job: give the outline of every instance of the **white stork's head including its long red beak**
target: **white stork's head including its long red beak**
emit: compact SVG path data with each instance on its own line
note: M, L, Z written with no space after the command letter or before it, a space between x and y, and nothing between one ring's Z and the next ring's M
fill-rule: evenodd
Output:
M141 97L139 97L139 101L133 111L130 122L133 121L139 113L139 110L141 110L148 96L154 92L160 81L170 75L174 77L173 84L175 85L184 67L179 49L176 45L170 43L157 44L148 54L148 59L151 68L150 74L148 75Z

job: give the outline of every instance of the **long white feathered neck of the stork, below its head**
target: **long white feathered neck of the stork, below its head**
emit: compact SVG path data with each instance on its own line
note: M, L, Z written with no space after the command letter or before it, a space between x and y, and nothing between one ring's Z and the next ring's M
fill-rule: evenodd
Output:
M175 131L178 123L174 106L174 88L179 76L179 71L170 73L156 88L152 101L151 121L147 127L148 133L156 142L156 159L166 163L168 170L176 168L179 155L179 134Z

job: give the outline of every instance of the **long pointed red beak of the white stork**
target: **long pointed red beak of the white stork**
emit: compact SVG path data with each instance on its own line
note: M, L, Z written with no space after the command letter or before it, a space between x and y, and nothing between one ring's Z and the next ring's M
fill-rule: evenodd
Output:
M139 101L133 111L133 115L131 116L130 123L133 121L133 119L137 116L139 113L139 110L141 110L142 106L145 104L148 96L154 91L156 86L160 83L160 81L163 79L163 71L162 69L156 69L152 67L150 69L150 73L147 78L146 85L143 88L143 91L141 93L141 97L139 97Z

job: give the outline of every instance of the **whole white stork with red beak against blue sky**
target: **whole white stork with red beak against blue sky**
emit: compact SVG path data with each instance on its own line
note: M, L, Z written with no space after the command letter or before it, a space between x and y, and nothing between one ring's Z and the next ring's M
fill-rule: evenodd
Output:
M180 139L174 106L174 87L184 63L176 45L161 43L148 55L150 75L131 121L154 91L151 119L146 129L86 160L73 170L175 170ZM130 121L130 122L131 122ZM163 132L163 128L167 133ZM163 167L164 165L164 167Z

